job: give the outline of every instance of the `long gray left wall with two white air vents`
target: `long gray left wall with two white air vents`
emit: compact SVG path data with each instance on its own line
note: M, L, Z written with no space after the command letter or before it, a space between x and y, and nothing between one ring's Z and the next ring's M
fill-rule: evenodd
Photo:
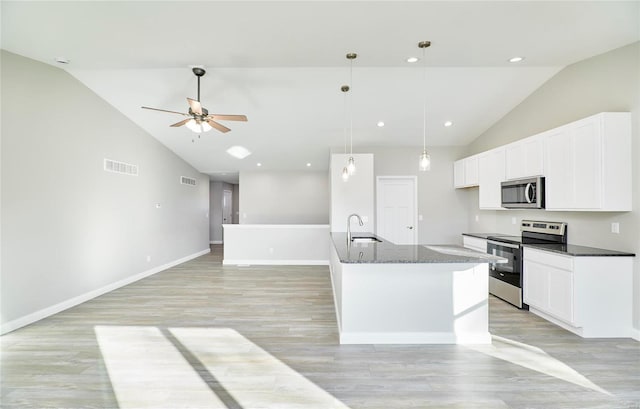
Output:
M2 324L208 249L206 176L65 71L1 68Z

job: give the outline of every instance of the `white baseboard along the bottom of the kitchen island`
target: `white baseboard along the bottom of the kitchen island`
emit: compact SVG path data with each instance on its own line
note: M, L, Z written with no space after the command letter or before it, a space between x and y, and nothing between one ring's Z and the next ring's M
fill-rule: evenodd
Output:
M340 332L340 344L491 344L489 332Z

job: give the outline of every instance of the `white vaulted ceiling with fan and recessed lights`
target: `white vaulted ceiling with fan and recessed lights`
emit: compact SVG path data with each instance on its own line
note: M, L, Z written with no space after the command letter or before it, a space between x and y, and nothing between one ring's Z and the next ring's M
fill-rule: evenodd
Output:
M256 169L326 169L343 147L353 63L353 145L465 145L563 67L640 40L640 2L583 1L2 1L2 48L78 78L216 178ZM426 50L423 63L408 64ZM519 64L507 60L526 57ZM56 57L71 60L68 65ZM196 97L246 114L200 138L169 128ZM384 128L376 123L382 120ZM454 126L445 128L445 120ZM194 138L195 137L195 138ZM193 140L193 142L192 142ZM243 145L244 160L225 150ZM306 167L310 162L312 166Z

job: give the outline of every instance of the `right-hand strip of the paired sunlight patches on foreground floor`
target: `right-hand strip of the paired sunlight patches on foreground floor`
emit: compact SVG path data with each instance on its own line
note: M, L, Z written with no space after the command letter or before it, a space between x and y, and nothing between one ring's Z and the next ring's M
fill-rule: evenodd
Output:
M233 329L170 328L169 331L243 408L348 409Z

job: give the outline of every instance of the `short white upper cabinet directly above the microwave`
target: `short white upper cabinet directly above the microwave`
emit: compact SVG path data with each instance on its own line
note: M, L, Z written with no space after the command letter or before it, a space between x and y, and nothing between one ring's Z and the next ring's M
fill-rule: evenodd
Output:
M544 134L539 134L505 146L505 179L542 176Z

